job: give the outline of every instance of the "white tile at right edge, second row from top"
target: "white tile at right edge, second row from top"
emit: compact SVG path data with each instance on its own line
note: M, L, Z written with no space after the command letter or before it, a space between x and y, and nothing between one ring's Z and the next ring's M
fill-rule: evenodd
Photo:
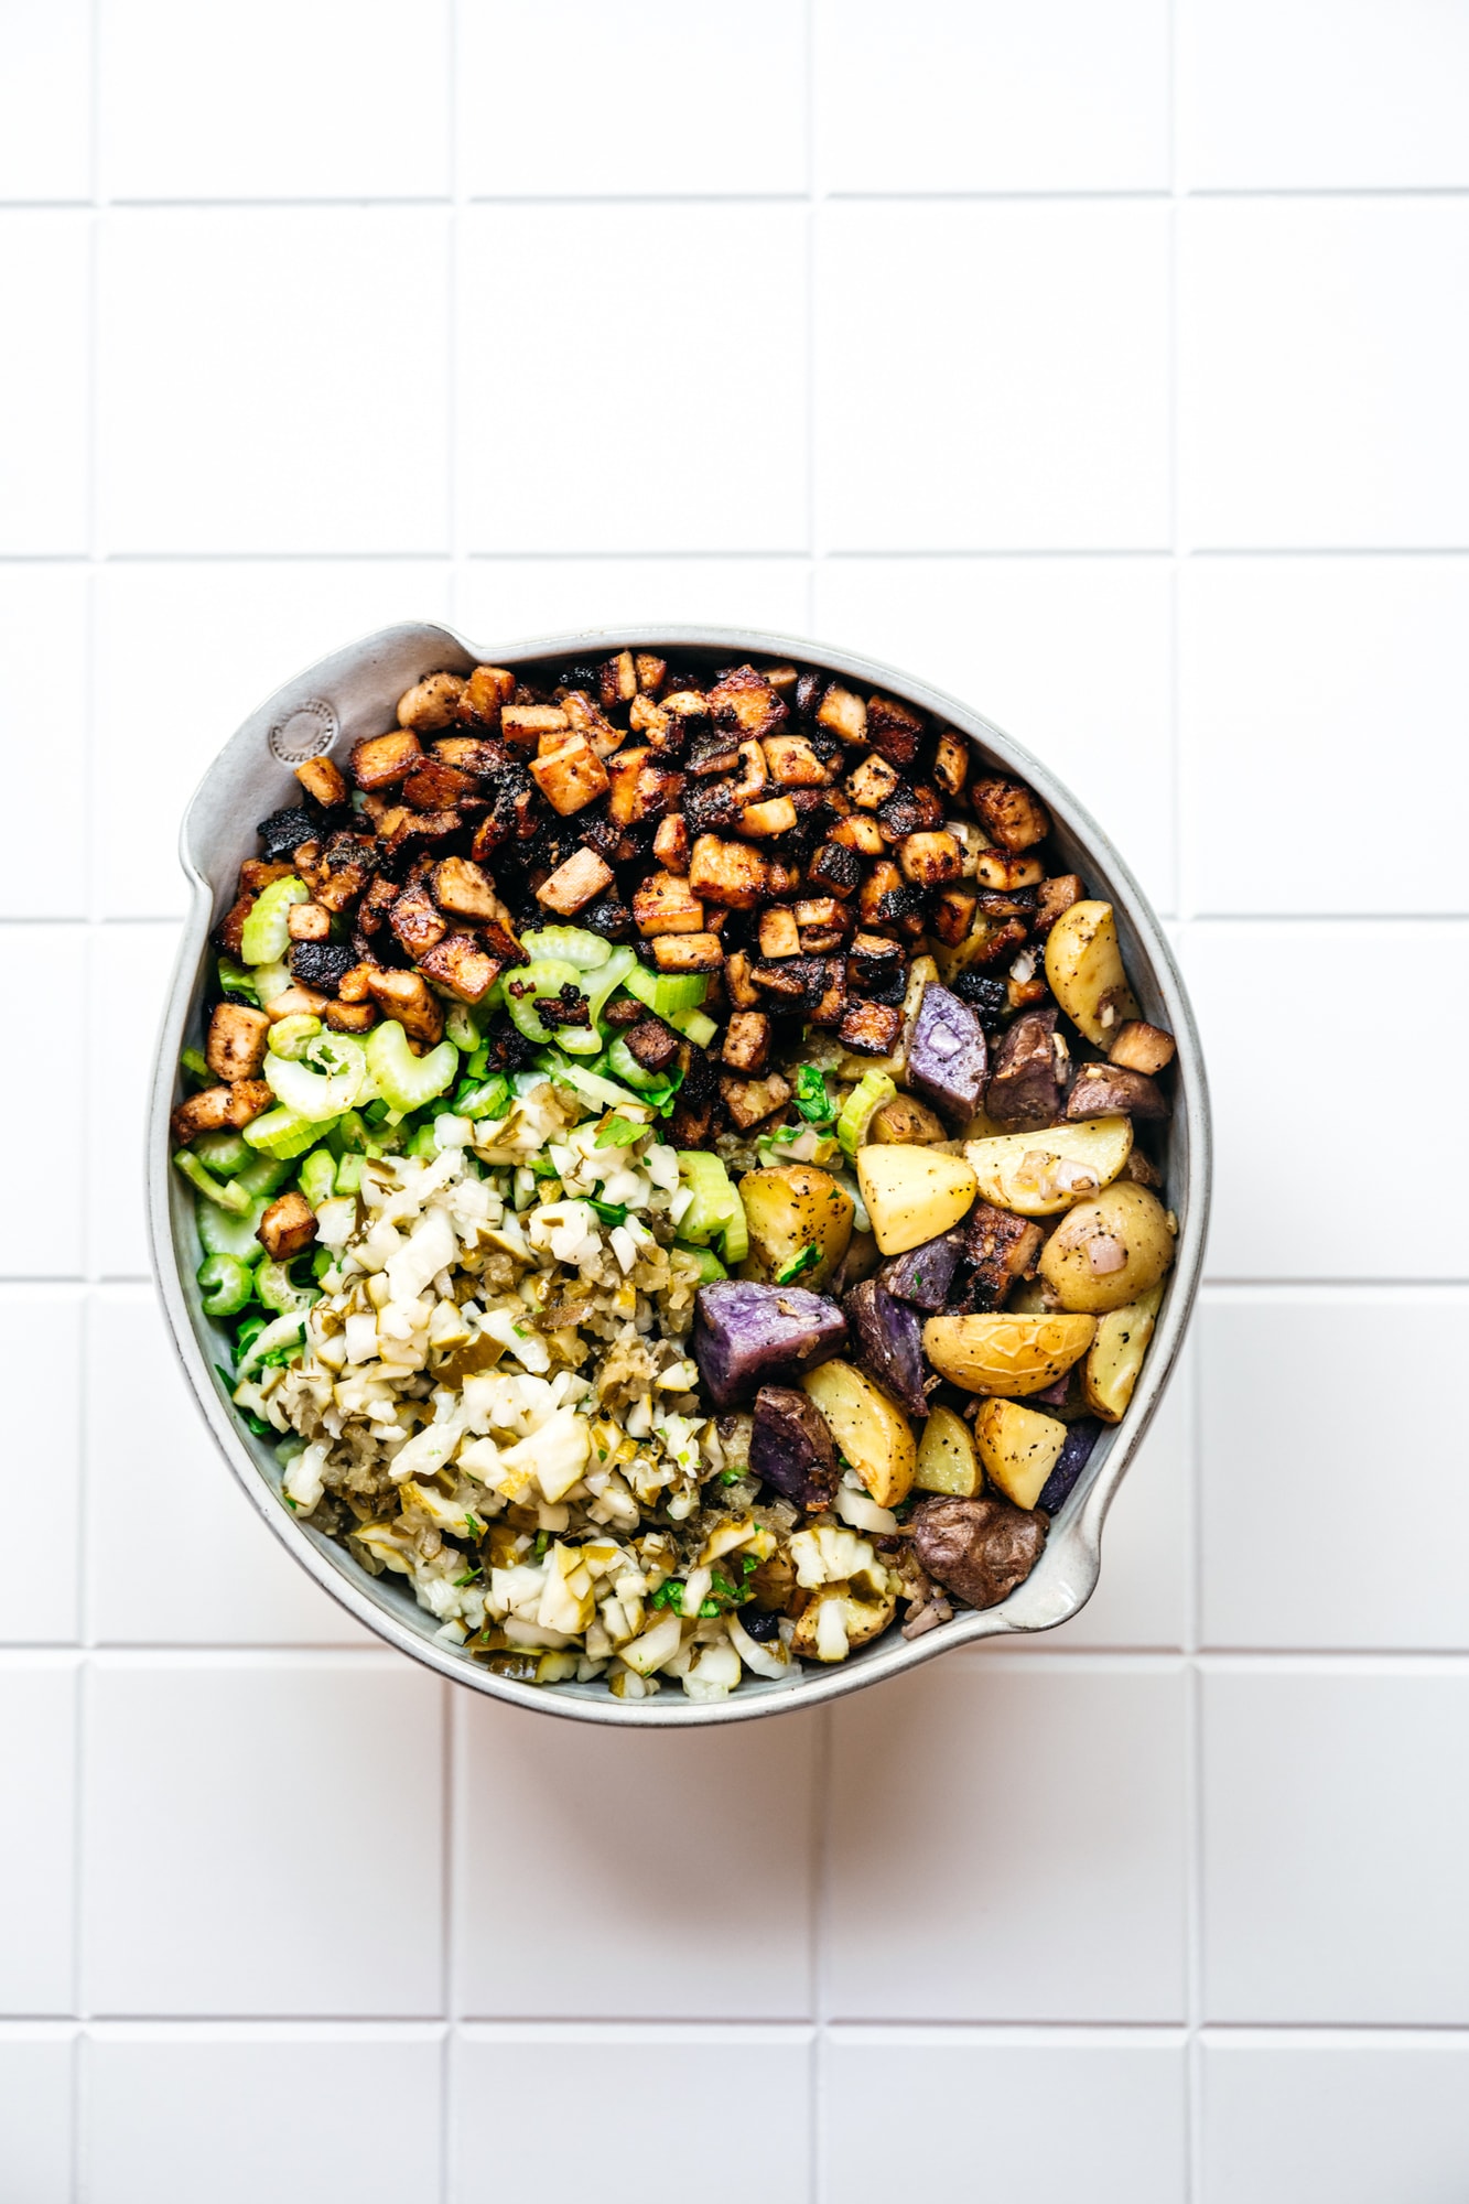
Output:
M1469 203L1193 201L1180 474L1195 549L1469 544Z

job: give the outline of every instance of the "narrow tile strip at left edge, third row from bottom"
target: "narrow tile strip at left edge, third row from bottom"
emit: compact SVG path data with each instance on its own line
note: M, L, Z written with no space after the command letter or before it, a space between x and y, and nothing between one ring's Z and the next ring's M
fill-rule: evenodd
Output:
M0 1638L66 1644L77 1635L77 1483L82 1474L82 1294L0 1287L0 1514L24 1525L24 1565L7 1571Z

